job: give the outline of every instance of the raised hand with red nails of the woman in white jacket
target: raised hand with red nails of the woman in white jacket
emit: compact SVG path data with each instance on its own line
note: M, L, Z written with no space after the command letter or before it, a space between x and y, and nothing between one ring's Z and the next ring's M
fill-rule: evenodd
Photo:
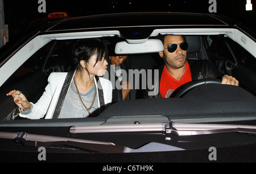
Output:
M31 103L27 101L27 98L20 92L20 90L11 90L6 96L12 96L16 105L24 111L31 107Z

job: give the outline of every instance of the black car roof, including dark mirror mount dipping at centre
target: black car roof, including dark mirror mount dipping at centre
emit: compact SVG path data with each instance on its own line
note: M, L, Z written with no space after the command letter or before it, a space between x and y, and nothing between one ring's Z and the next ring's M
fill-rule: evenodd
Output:
M34 32L39 35L84 31L118 31L121 38L143 40L156 36L157 29L170 28L236 28L251 39L256 35L241 23L225 16L178 12L136 12L100 14L60 19L48 23ZM152 35L155 34L155 35Z

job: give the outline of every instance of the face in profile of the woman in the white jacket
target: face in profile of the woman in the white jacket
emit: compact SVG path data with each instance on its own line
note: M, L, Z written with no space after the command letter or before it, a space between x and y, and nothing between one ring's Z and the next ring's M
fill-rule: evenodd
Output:
M98 60L97 63L96 63L96 60L97 60L96 54L94 54L94 55L92 55L92 57L90 57L88 63L86 64L86 68L88 69L88 72L90 75L92 75L92 76L104 76L105 75L105 72L107 71L108 62L104 59L104 55L103 55L103 57L101 57L100 60Z

